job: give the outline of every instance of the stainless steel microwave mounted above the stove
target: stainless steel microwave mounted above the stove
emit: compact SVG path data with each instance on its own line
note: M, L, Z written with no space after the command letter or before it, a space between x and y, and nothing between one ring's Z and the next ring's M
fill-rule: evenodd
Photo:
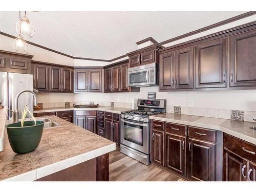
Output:
M157 85L157 64L151 63L127 70L127 82L131 87Z

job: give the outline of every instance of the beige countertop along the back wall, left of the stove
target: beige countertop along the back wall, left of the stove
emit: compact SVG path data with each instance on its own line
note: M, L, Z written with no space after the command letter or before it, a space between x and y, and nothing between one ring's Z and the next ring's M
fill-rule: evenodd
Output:
M69 110L75 110L75 111L84 111L84 110L90 110L90 111L106 111L111 113L118 113L121 114L122 111L131 110L129 108L117 108L117 107L111 107L111 106L99 106L98 108L43 108L41 110L35 110L34 113L44 113L44 112L55 112L55 111L69 111Z

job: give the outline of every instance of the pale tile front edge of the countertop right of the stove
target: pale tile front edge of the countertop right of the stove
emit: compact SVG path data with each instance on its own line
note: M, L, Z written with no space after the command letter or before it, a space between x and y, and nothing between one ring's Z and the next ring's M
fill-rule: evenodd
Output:
M256 138L241 134L237 131L229 130L226 127L223 127L223 126L220 126L220 125L197 123L195 121L194 122L189 122L189 121L176 120L176 119L163 118L163 117L156 117L156 116L150 116L150 119L165 121L165 122L170 122L170 123L185 124L185 125L188 125L188 126L197 126L197 127L201 127L201 128L205 128L205 129L209 129L209 130L221 131L223 133L229 134L231 136L237 137L239 139L242 139L244 141L247 141L249 143L252 143L252 144L256 145ZM223 120L228 120L228 119L223 119Z

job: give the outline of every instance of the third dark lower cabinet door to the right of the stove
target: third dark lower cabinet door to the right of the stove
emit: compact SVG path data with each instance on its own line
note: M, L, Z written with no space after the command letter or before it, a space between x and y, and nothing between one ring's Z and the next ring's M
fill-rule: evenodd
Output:
M188 139L187 176L195 181L216 180L216 144Z

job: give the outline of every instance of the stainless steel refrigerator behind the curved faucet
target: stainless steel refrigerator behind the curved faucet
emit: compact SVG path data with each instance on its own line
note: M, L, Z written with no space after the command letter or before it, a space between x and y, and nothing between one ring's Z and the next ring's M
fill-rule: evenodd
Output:
M16 95L23 90L33 91L33 75L0 72L0 88L2 90L0 102L2 102L3 106L8 106L10 110L14 111ZM33 112L33 95L31 93L23 93L19 96L19 118L22 116L22 110L24 110L25 104L27 104L29 110ZM9 119L13 118L11 112L9 112L8 116Z

